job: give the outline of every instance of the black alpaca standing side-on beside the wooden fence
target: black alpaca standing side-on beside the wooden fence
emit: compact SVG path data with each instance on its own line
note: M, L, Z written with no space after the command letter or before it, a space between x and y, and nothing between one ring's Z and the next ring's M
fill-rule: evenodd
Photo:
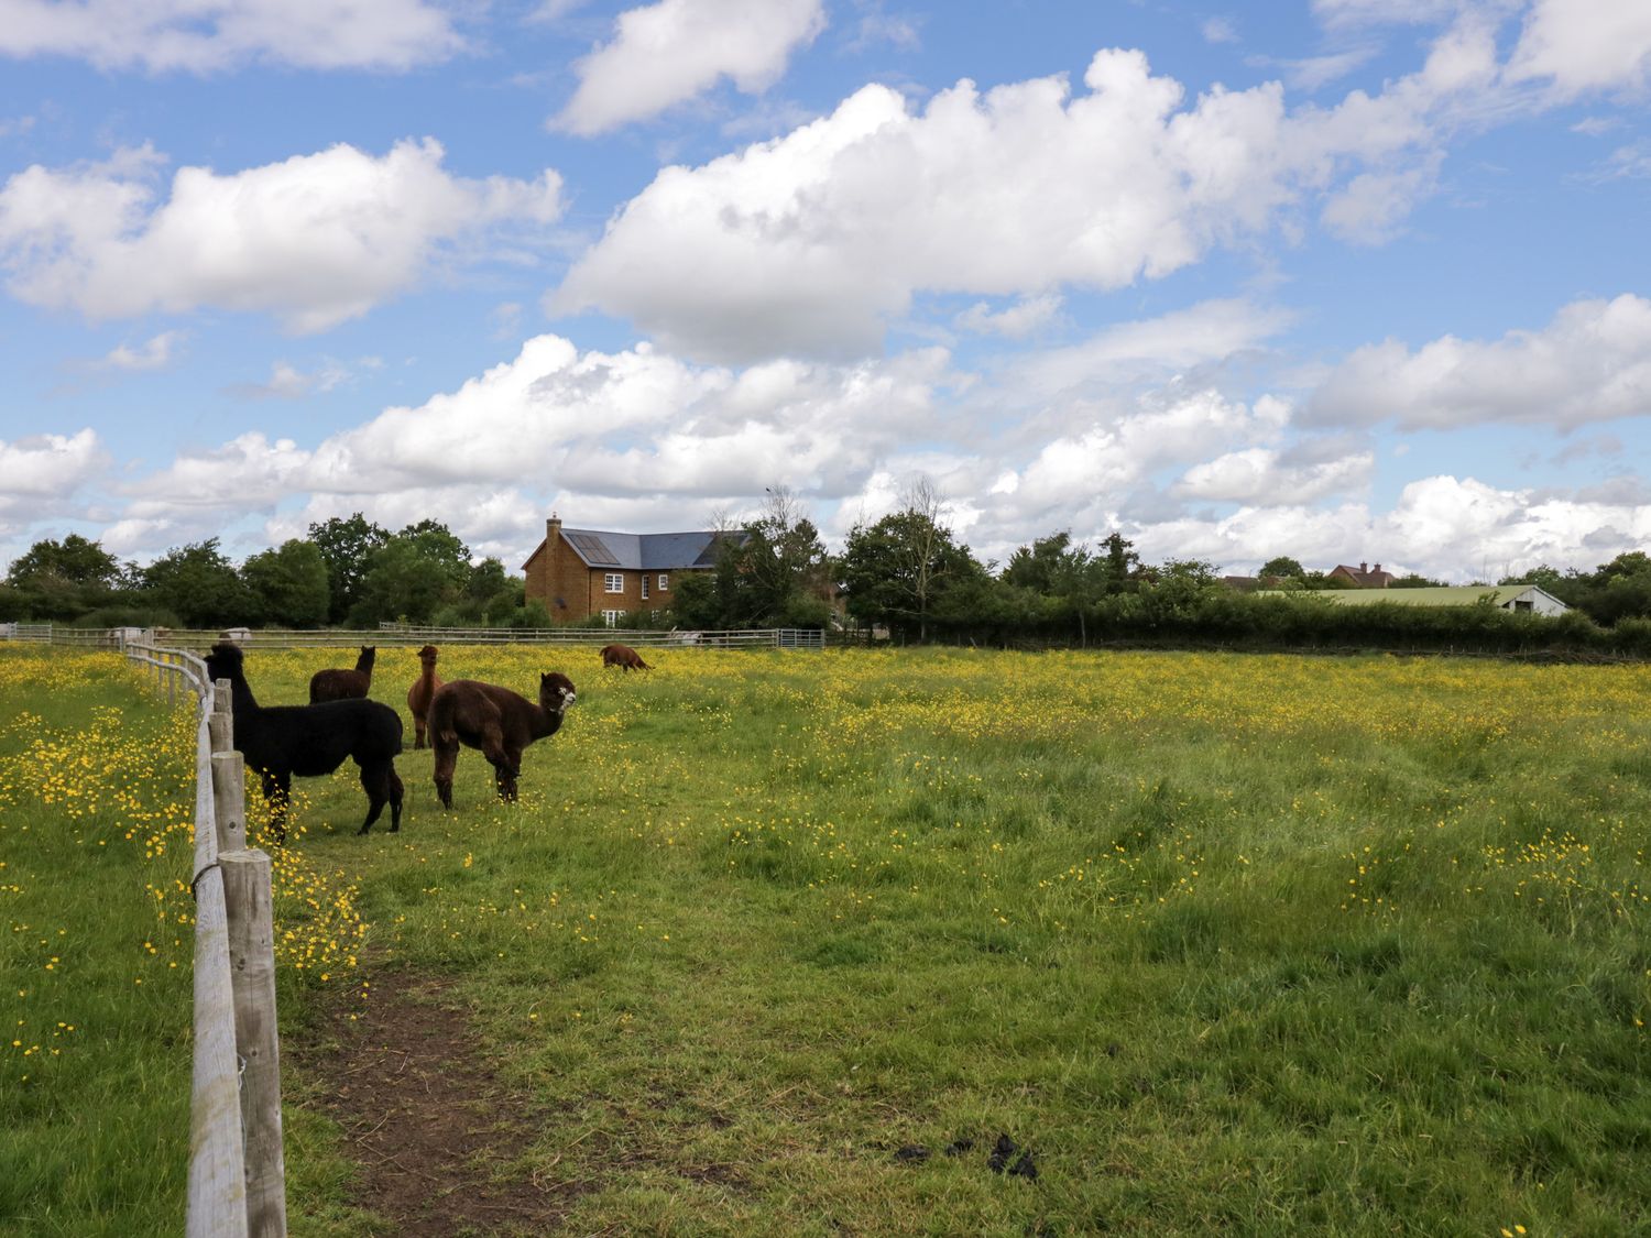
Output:
M243 654L229 644L211 647L206 673L213 682L229 680L234 711L234 746L256 769L264 799L274 806L276 840L286 842L286 810L292 776L320 777L355 758L367 792L367 834L390 804L390 830L401 829L401 779L396 754L401 751L401 715L373 700L335 700L322 705L271 705L253 698L241 672Z

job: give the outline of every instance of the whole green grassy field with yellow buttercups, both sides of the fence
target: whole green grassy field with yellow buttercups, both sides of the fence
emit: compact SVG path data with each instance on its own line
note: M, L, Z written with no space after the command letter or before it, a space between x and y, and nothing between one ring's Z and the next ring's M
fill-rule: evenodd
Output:
M294 702L350 654L248 677ZM352 773L305 784L277 895L296 1235L375 1228L322 1114L338 1012L429 992L535 1114L487 1174L575 1184L568 1233L1651 1228L1651 669L649 660L442 650L449 678L580 688L517 806L469 751L452 814L401 758L400 835L355 837ZM416 672L383 650L373 695L404 710ZM175 1231L122 1218L182 1208L183 1149L121 1141L152 1149L187 1093L188 936L157 928L187 857L145 842L187 786L142 773L180 730L94 657L7 652L0 690L40 715L0 731L0 1017L26 1027L0 1225ZM71 733L104 736L91 766ZM104 791L69 817L76 759ZM78 1116L112 1088L130 1114Z

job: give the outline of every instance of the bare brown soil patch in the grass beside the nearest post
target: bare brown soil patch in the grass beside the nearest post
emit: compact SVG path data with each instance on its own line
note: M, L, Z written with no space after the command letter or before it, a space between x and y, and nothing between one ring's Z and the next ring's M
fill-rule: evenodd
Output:
M551 1116L499 1080L447 989L396 974L284 1047L360 1165L352 1202L406 1238L555 1230L589 1185L495 1177Z

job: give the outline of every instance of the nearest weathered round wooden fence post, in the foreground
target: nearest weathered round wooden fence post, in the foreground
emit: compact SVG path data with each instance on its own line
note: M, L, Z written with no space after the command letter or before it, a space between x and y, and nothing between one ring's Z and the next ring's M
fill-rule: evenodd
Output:
M239 753L234 754L239 763ZM213 758L216 763L218 758ZM246 1230L286 1238L286 1157L281 1149L281 1043L276 1033L276 954L269 857L259 850L218 855L229 916L234 1048L246 1137Z

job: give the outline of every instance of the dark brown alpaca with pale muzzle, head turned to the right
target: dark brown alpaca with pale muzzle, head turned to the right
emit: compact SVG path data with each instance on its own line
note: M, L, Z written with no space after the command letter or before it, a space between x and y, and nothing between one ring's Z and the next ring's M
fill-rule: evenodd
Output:
M480 749L494 768L499 799L515 801L522 749L561 730L561 716L576 700L573 680L551 672L538 677L538 705L497 683L456 678L436 688L429 703L429 738L436 748L436 794L452 807L452 769L459 744Z

